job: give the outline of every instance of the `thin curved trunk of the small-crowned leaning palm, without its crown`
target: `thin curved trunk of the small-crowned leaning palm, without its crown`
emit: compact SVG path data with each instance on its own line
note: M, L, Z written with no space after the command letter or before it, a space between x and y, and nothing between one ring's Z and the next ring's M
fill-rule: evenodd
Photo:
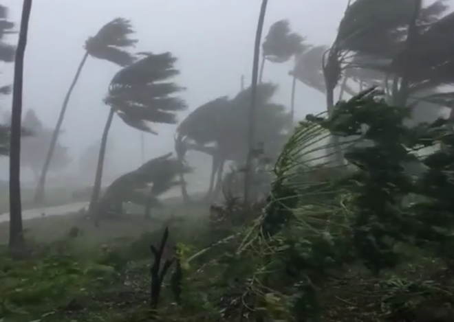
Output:
M58 115L57 124L54 128L54 133L52 133L52 139L50 141L49 150L47 151L47 156L45 158L43 170L41 171L41 176L39 178L38 187L36 187L36 192L34 195L35 203L41 203L44 200L45 179L47 176L47 172L49 171L50 161L52 161L52 155L54 154L56 142L58 140L58 135L60 134L60 130L61 130L61 125L63 124L63 119L65 118L65 113L66 113L66 109L67 109L67 106L69 103L69 98L71 97L74 87L76 87L76 83L79 79L80 72L82 71L82 69L85 65L85 62L87 61L88 56L89 56L88 51L86 51L82 60L80 61L79 67L76 71L76 75L74 76L74 79L72 80L71 86L69 87L69 89L66 93L65 100L63 100L63 105L61 106L60 115Z

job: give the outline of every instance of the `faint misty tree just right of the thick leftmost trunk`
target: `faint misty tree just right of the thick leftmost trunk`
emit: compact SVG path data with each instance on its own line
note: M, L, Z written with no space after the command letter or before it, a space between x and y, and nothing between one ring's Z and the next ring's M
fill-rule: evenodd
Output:
M29 110L25 113L22 126L29 130L32 135L21 139L21 166L32 170L34 179L37 182L41 169L43 169L46 151L52 137L52 129L43 125L34 110ZM68 155L68 148L57 141L49 170L63 170L71 161L72 159Z

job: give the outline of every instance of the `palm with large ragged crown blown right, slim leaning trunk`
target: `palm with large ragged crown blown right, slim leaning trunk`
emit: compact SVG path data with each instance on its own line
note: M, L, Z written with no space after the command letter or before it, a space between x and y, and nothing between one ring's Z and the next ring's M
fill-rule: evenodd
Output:
M140 55L144 58L118 71L109 85L105 104L110 106L110 111L102 133L90 211L94 211L98 202L107 136L114 115L137 130L157 135L147 122L175 124L176 113L186 109L184 101L175 96L182 87L171 82L179 73L174 67L176 58L169 52Z

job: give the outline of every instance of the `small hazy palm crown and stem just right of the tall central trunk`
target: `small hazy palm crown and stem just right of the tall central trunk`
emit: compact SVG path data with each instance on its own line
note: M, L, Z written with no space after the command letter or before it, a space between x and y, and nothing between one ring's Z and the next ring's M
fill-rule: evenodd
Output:
M265 41L261 45L262 60L259 72L259 82L263 79L263 69L266 60L270 62L288 62L296 54L301 53L305 48L305 38L290 30L288 20L280 20L273 23L268 30Z

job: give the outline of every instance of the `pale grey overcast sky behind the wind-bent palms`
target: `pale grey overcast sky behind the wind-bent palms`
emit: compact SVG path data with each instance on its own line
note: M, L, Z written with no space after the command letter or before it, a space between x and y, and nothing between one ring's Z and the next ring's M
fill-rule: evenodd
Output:
M19 23L19 0L1 0L10 19ZM289 19L294 31L314 44L332 42L347 0L270 0L265 35L272 23ZM54 126L63 97L74 77L88 36L118 16L130 19L137 31L138 51L171 51L181 71L177 82L190 110L221 95L235 95L241 74L250 82L260 0L35 0L25 54L24 110L34 108L47 126ZM11 38L12 42L17 41ZM290 102L290 65L268 65L264 80L279 84L277 102ZM12 66L3 68L12 81ZM89 59L72 95L63 124L62 141L74 154L100 139L108 108L102 104L118 67ZM9 102L4 102L8 106ZM323 96L299 85L297 113L323 110ZM187 113L183 113L180 119ZM173 150L175 126L155 126L147 135L147 157ZM113 141L122 170L140 163L139 133L114 120Z

